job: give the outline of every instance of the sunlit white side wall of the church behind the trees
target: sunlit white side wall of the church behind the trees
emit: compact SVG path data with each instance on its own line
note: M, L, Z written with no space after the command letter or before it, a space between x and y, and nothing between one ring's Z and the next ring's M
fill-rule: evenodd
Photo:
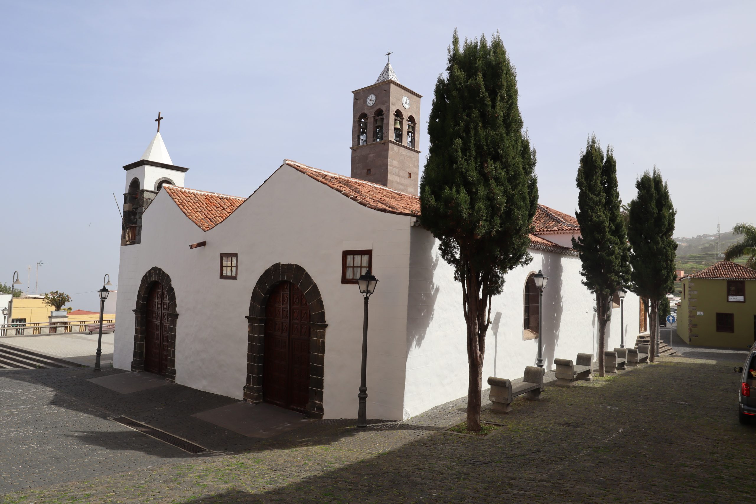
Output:
M407 314L407 383L404 418L467 394L466 326L462 288L453 268L438 253L438 241L421 227L412 229L410 293ZM546 369L554 358L575 360L578 352L597 354L595 298L581 284L580 258L530 249L533 261L507 274L503 292L491 301L491 327L486 337L483 385L488 376L515 379L534 366L538 340L522 337L523 295L528 275L543 270L543 356ZM624 301L626 347L638 334L638 298ZM620 310L612 310L606 348L620 345ZM484 397L484 402L487 397Z

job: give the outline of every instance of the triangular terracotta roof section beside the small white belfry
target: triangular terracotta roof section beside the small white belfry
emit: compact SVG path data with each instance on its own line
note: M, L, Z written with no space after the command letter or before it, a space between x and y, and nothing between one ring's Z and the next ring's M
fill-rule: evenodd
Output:
M187 189L165 184L163 189L176 202L181 212L203 231L220 224L246 201L240 196L208 193L204 190Z

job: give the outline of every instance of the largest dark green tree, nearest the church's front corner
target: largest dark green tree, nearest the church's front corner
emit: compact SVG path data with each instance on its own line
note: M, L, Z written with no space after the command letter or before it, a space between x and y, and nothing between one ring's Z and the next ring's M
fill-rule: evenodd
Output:
M491 296L504 274L531 261L528 232L538 206L535 151L517 106L517 79L497 33L457 30L429 117L429 156L420 182L422 222L462 284L467 325L467 425L480 430L485 334Z

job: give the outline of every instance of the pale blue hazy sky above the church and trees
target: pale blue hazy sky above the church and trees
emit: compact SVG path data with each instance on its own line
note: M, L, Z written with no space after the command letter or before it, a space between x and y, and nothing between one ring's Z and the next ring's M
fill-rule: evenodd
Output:
M754 221L754 2L0 2L0 282L96 309L125 172L154 135L186 185L248 196L284 157L349 175L351 91L386 63L423 94L460 36L500 30L541 203L574 212L586 138L621 196L657 165L677 236ZM420 149L427 138L420 131ZM421 169L424 153L421 155ZM32 267L31 288L35 270Z

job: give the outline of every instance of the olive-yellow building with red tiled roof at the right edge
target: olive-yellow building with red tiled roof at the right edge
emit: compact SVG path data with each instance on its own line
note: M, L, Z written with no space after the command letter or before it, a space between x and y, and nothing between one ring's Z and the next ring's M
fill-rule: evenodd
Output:
M756 271L719 261L684 277L677 335L691 345L745 348L756 341Z

